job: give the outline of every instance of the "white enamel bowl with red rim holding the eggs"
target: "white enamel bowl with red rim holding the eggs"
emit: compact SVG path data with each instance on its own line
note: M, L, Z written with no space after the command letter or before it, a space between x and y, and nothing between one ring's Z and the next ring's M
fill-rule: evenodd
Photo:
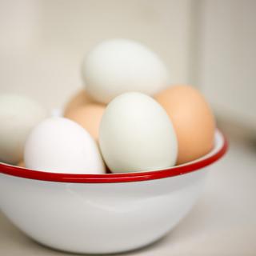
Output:
M106 254L146 246L189 212L210 164L226 152L216 131L203 158L132 174L54 174L0 163L0 206L30 238L74 253Z

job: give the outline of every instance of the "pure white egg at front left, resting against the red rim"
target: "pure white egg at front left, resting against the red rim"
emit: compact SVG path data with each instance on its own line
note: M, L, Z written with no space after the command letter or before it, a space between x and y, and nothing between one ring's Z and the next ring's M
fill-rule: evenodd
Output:
M76 122L47 118L32 130L24 150L26 168L54 173L103 174L94 139Z

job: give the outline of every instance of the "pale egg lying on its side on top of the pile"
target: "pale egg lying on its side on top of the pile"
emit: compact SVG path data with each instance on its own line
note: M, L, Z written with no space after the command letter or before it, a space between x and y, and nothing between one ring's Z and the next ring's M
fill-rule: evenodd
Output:
M170 83L169 71L157 54L121 38L101 42L86 55L82 78L92 98L103 103L130 91L152 95Z

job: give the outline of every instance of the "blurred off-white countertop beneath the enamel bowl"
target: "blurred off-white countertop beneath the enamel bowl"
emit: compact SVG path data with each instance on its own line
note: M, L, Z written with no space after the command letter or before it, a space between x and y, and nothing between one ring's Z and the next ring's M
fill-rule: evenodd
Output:
M165 238L122 255L256 255L256 151L233 142L189 215ZM72 255L30 240L0 214L0 255Z

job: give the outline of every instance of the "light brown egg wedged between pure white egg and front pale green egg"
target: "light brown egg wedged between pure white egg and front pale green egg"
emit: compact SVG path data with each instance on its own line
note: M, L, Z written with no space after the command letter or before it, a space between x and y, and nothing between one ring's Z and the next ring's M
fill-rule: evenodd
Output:
M90 103L84 106L78 106L74 110L70 110L65 114L65 117L77 122L80 126L85 128L96 141L98 141L99 124L105 109L106 107L101 104Z

